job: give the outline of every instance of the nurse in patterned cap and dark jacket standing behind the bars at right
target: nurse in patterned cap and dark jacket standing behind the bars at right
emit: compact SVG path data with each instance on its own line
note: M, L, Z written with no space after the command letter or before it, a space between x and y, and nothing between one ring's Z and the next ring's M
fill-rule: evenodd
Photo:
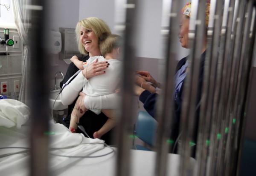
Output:
M209 9L210 9L210 1L207 1L206 10L205 10L205 27L207 30L208 21L209 21ZM187 3L183 9L181 10L181 21L180 21L180 31L179 31L179 39L181 46L183 48L189 48L189 20L191 18L191 13L193 13L193 9L191 9L191 2ZM207 49L207 33L204 36L203 46L201 48L201 64L200 64L200 76L199 76L199 94L198 100L201 99L201 88L202 81L204 75L204 60ZM181 104L183 101L183 85L186 80L187 74L187 66L188 66L188 58L184 57L181 59L176 66L176 75L175 75L175 92L173 96L174 100L174 119L173 119L173 127L170 139L176 141L179 135L179 122L180 122L180 113L181 113ZM135 88L135 94L139 97L140 101L143 102L145 110L153 117L156 115L156 99L158 94L154 93L152 90L152 86L156 89L160 87L160 84L153 78L147 71L138 71L137 74L140 74L140 79L137 79L137 86ZM143 78L143 79L142 79ZM143 83L144 82L144 83ZM146 82L151 82L151 87L148 86ZM147 87L145 87L147 86ZM150 87L150 89L148 88ZM199 112L199 111L198 111ZM196 117L198 118L198 112L196 112ZM196 136L195 136L196 141ZM175 153L177 152L177 148L175 148Z

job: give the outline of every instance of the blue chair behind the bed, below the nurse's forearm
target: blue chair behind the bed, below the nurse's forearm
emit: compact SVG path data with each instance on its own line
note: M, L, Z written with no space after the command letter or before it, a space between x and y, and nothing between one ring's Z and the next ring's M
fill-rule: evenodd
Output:
M151 151L150 148L135 144L135 138L138 137L149 146L154 147L157 125L157 121L151 115L145 111L139 111L136 123L134 125L133 149Z

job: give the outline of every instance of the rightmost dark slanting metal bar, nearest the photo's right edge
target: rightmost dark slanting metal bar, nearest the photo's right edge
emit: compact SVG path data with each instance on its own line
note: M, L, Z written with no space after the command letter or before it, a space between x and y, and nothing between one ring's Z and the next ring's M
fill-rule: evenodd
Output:
M247 11L245 13L245 8L247 7ZM241 24L244 28L242 28L243 39L240 45L241 47L241 54L239 55L239 66L238 72L236 74L236 93L234 99L234 117L236 118L236 123L233 125L234 135L233 138L230 139L230 146L227 146L230 149L229 153L230 156L227 156L227 171L233 172L235 174L236 170L231 170L231 168L236 167L237 159L238 159L238 151L239 151L239 141L241 141L241 129L244 121L244 108L246 104L245 94L248 79L248 66L247 63L251 58L248 58L249 55L249 35L250 35L250 26L252 20L252 11L253 11L253 1L249 1L248 3L244 2L244 13L242 13L243 24ZM241 22L242 23L242 22ZM252 51L252 50L251 50ZM232 152L232 153L231 153ZM237 173L238 174L238 173Z

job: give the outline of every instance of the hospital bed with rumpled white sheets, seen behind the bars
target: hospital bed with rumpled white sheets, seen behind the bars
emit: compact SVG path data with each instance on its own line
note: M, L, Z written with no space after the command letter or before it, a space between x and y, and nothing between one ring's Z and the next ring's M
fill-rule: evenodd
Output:
M25 104L0 100L0 173L9 176L29 175L29 113ZM64 125L49 120L49 172L54 176L114 176L117 148L103 140L71 133ZM131 176L154 176L154 151L130 150ZM167 175L177 176L180 156L168 154ZM190 170L195 159L190 159Z

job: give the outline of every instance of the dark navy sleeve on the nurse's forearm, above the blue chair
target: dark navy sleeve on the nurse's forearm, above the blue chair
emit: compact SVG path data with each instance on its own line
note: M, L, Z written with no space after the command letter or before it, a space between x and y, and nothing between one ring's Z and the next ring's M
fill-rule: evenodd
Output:
M151 93L150 91L143 91L140 94L140 101L143 102L143 107L152 117L155 117L157 107L157 94Z

